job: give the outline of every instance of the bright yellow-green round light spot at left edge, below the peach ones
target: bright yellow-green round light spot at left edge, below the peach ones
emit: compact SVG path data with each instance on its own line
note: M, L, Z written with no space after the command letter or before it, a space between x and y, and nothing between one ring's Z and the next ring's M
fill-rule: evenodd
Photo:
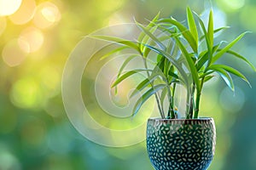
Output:
M44 96L40 86L32 78L24 78L15 82L11 89L10 99L20 108L38 108L44 105Z

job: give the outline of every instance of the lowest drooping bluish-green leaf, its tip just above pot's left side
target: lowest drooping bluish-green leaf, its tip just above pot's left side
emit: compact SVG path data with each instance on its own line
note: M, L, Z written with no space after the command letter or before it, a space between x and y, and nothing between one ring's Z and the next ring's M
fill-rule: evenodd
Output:
M143 94L142 97L140 97L137 100L137 103L135 104L133 111L132 111L132 116L136 116L137 112L140 110L142 105L153 95L156 94L160 89L165 88L166 84L158 84L154 86L153 88L150 88L145 94Z

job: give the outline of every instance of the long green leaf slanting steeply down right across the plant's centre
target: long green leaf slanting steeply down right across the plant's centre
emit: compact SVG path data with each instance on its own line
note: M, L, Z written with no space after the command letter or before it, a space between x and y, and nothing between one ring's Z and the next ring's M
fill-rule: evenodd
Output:
M178 47L181 49L185 59L187 60L187 63L189 64L189 71L192 75L193 81L195 82L195 87L198 91L201 91L201 89L200 89L201 86L200 86L200 82L199 82L198 72L195 67L195 63L194 63L193 59L190 57L187 49L183 46L183 43L178 38L175 38L175 39L177 41Z

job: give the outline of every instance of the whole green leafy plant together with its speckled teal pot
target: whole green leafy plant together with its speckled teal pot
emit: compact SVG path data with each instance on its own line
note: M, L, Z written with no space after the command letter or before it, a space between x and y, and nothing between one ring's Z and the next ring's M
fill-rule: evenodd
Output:
M125 59L112 88L116 88L127 77L140 72L146 73L146 78L131 94L131 97L142 94L134 106L132 116L136 116L142 105L154 95L160 117L148 119L147 149L155 169L207 169L214 155L216 132L211 117L199 116L202 88L217 74L233 91L234 83L230 74L249 83L240 71L232 67L232 63L218 63L218 59L224 54L230 54L256 71L246 58L230 49L247 32L241 33L231 42L218 42L216 33L228 27L213 29L212 10L206 26L201 17L193 14L189 7L187 24L172 17L160 18L160 14L157 14L148 26L137 22L136 24L141 30L137 41L102 35L92 36L121 46L103 58L125 48L132 48L137 54ZM153 54L154 61L148 61L149 54ZM136 56L143 59L144 68L125 71L125 65ZM148 62L153 65L152 69L148 67ZM183 115L176 107L177 86L186 89ZM166 100L167 109L164 105Z

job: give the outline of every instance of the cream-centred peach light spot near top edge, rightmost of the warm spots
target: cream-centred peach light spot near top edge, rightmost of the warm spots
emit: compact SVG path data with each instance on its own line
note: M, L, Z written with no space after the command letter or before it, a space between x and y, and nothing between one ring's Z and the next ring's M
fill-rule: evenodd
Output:
M61 20L61 13L54 3L41 3L34 16L33 22L39 28L48 28Z

